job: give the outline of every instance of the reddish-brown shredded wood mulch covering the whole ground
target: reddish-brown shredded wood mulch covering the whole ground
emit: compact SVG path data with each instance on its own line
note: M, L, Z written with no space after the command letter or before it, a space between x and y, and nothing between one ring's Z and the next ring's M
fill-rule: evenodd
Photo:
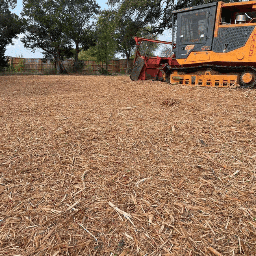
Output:
M0 93L0 255L256 255L255 89L1 76Z

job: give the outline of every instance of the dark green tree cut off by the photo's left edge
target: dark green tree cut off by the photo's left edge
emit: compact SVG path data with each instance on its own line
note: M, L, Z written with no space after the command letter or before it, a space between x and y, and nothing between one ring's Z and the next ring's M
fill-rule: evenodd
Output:
M0 70L7 67L6 46L22 32L22 20L9 9L14 8L16 3L15 0L0 0Z

